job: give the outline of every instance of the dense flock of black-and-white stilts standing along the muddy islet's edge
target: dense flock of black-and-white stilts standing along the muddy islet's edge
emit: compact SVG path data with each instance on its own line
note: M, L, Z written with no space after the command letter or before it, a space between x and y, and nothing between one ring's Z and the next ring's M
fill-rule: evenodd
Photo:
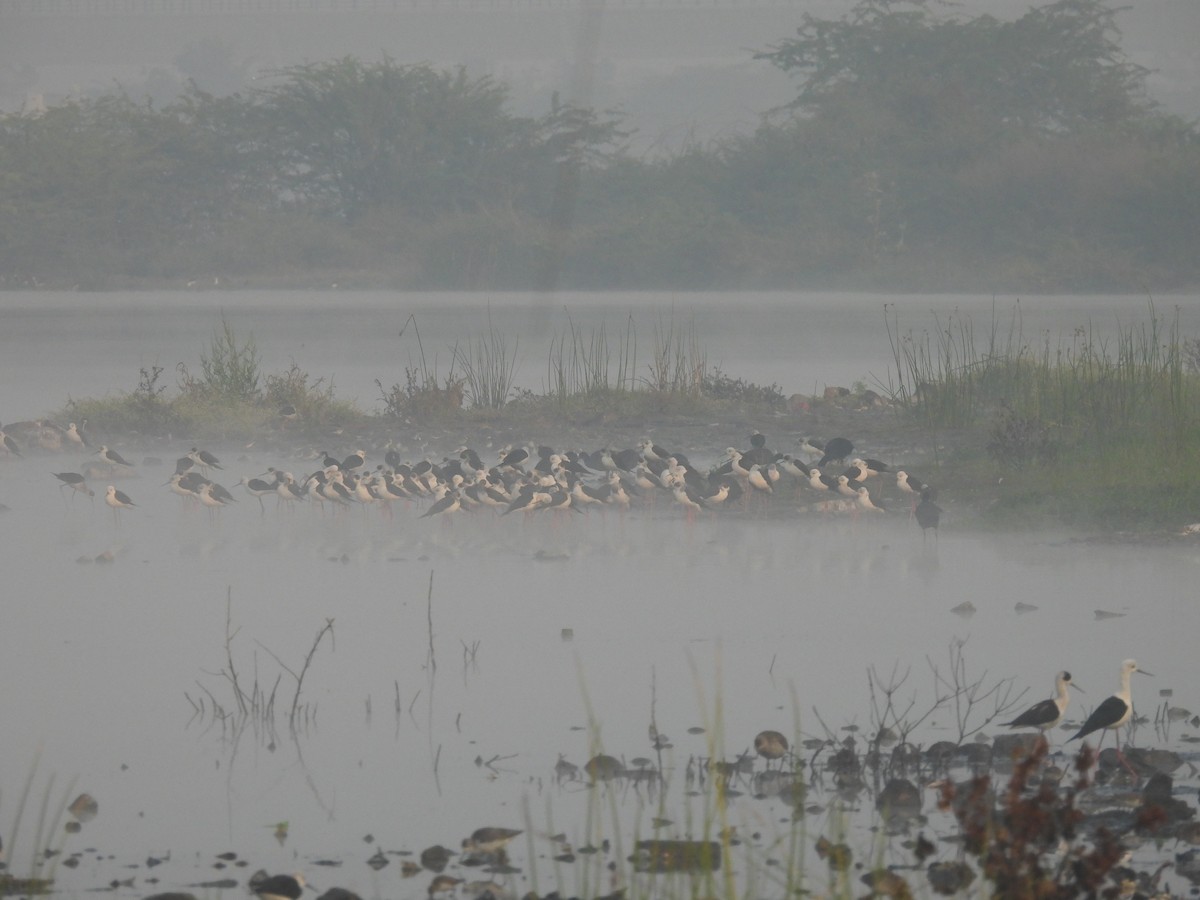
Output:
M89 445L74 422L62 433L71 443ZM797 496L808 494L805 506L812 511L878 514L886 508L878 488L872 494L870 485L882 484L887 476L894 479L901 494L912 498L910 517L922 532L934 530L936 535L942 510L929 485L878 460L853 456L854 446L847 438L836 437L824 444L802 438L797 444L796 454L776 452L767 446L763 434L755 432L748 449L727 448L720 462L706 470L692 466L683 452L666 450L649 438L636 448L604 448L593 452L509 445L492 464L468 446L458 448L440 462L428 458L410 462L389 444L383 462L374 467L367 464L364 450L342 458L319 451L320 464L308 474L298 478L282 467L271 467L241 479L235 487L258 499L263 511L263 499L271 496L277 505L311 500L322 509L325 504L335 509L379 504L389 516L392 502L418 502L425 504L421 518L485 508L502 516L539 510L582 512L608 506L628 510L635 503L652 505L662 497L690 520L701 511L728 509L739 502L746 509L756 497L763 498L761 503L790 488ZM4 431L0 446L11 455L20 454ZM101 474L116 476L134 470L132 463L107 445L94 454L103 463ZM176 461L164 487L215 512L236 502L229 488L209 478L222 468L214 454L193 446ZM95 496L83 473L53 474L61 488ZM104 503L114 516L138 505L115 485L107 486Z

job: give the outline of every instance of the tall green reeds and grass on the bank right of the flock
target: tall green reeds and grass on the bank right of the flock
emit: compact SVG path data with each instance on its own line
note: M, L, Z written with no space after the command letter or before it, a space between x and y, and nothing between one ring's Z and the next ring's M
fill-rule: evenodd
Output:
M958 313L901 334L892 304L884 323L895 377L883 390L895 408L935 446L948 428L984 430L990 466L959 451L941 481L956 474L956 486L973 490L996 482L997 467L1021 470L1002 482L992 521L1134 528L1178 521L1200 503L1200 372L1187 365L1178 311L1162 317L1151 301L1146 322L1118 323L1111 340L1087 325L1057 346L1026 340L1019 304L1007 328L994 312L982 336Z

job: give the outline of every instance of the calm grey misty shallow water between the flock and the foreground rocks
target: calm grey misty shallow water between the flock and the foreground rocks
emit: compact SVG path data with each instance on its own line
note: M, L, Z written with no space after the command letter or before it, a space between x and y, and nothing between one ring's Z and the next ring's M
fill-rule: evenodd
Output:
M736 317L736 310L722 312ZM358 314L370 318L370 311ZM86 343L84 358L120 358L114 371L124 374L131 354L169 359L182 344L196 352L217 312L186 316L204 326L186 335L162 326L161 346L137 317L127 329L114 320L113 337L96 347L86 343L86 329L72 340ZM283 307L274 316L281 328L292 322ZM264 355L270 347L269 359L277 358L277 330L266 334ZM12 365L11 349L6 340L0 365ZM36 356L30 349L20 349L25 359ZM365 368L374 356L364 356L355 365ZM66 367L70 392L119 390L107 371L86 377ZM8 378L4 384L13 389ZM32 384L35 397L48 390ZM798 382L785 389L792 388L803 389ZM13 408L11 398L5 408ZM696 440L688 450L698 464L724 449ZM217 480L229 487L268 466L298 474L314 468L257 450L210 449L224 461ZM175 455L186 450L181 444ZM1200 708L1190 626L1195 545L968 535L955 533L950 518L935 546L907 521L894 486L896 510L857 520L805 516L778 499L769 516L734 512L695 523L661 503L628 515L517 521L479 514L442 522L401 505L394 520L377 509L322 515L307 504L288 514L274 499L260 512L240 493L236 506L210 517L162 487L173 461L162 446L131 440L121 452L138 463L154 452L163 462L138 464L132 478L115 481L138 504L120 521L102 502L104 481L94 484L95 505L55 496L49 473L78 470L82 460L0 460L0 502L10 508L0 515L0 683L8 722L0 730L0 835L13 870L28 871L41 791L53 774L58 799L76 779L73 791L95 796L100 816L67 842L94 852L78 869L56 872L72 895L131 877L122 895L229 876L212 865L216 853L233 850L250 863L232 870L242 883L257 868L299 869L322 889L418 896L427 872L402 880L398 857L379 872L366 859L380 848L456 848L484 824L526 828L526 808L536 836L532 846L524 836L514 845L523 875L511 884L518 893L533 886L532 851L536 887L546 890L558 886L546 834L564 832L582 846L614 832L607 808L601 832L589 830L594 791L554 782L559 754L577 766L599 746L626 760L655 758L653 715L673 745L664 763L674 788L661 812L648 805L644 787L616 792L617 830L628 847L635 826L644 834L653 815L665 815L679 824L664 836L683 836L689 811L692 821L702 811L680 790L690 757L733 758L762 728L820 736L817 712L832 728L857 725L869 733L868 668L884 677L893 666L911 668L902 694L928 706L929 660L944 672L958 640L966 640L971 672L1028 689L1022 707L1049 696L1054 672L1068 668L1088 691L1073 700L1070 715L1081 719L1116 689L1120 661L1134 656L1156 674L1135 679L1140 713L1153 712L1160 689L1174 689L1172 704ZM114 562L86 562L106 551ZM966 600L977 610L972 617L952 612ZM1037 610L1019 614L1018 602ZM1097 610L1121 617L1098 619ZM287 728L292 673L328 619L332 640L320 642L305 673L310 720L294 739ZM222 676L227 626L244 689L257 682L270 691L278 679L274 736L247 730L235 739L210 715L208 694L226 710L234 707ZM202 697L204 714L197 714ZM698 726L706 733L689 733ZM1153 731L1139 730L1136 743L1190 746L1178 743L1193 731L1186 724L1166 738ZM946 710L914 739L955 736ZM35 799L13 834L17 798L38 752ZM743 791L731 808L739 830L781 832L787 809ZM280 821L289 822L282 846L269 827ZM806 827L816 834L834 824L817 814ZM169 863L145 868L148 856L168 852ZM893 845L884 853L902 856ZM323 869L320 859L342 865ZM560 866L563 889L578 889L581 865ZM154 877L161 881L148 881ZM230 892L241 895L242 888Z

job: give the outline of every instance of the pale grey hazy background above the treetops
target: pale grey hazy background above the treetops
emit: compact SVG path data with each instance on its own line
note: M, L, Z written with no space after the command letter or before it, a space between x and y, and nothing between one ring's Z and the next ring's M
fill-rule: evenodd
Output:
M512 110L541 115L558 95L619 109L632 148L745 133L793 98L788 78L755 50L792 36L800 17L836 17L850 0L0 0L0 109L60 103L120 85L169 102L193 79L223 95L272 70L355 55L464 65L511 88ZM962 16L1016 18L1019 0L971 0ZM1168 112L1200 116L1200 7L1130 4L1122 47L1153 71Z

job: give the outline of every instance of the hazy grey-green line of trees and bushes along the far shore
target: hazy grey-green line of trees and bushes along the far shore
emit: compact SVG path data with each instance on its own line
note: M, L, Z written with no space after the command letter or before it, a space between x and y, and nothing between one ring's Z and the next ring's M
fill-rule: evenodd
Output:
M0 116L0 286L1144 290L1200 283L1200 139L1114 8L805 16L794 102L635 158L619 115L508 110L354 58L269 86Z

